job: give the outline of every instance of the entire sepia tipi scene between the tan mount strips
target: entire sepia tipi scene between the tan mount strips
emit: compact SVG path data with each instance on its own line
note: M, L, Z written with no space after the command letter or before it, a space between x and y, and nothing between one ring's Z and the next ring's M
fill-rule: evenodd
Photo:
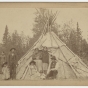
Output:
M0 8L0 81L88 80L88 8Z

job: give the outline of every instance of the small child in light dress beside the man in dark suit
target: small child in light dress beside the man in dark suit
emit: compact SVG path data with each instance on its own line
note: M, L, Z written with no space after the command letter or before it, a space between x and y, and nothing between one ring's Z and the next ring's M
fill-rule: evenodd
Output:
M3 65L2 65L2 79L4 80L8 80L10 78L10 71L9 71L9 68L8 68L8 65L7 65L7 62L5 62Z

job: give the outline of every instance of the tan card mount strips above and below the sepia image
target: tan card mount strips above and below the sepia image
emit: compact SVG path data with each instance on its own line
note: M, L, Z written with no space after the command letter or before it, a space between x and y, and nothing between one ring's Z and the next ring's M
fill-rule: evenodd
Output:
M1 2L0 8L88 8L88 3L83 2ZM44 80L44 81L0 81L1 86L88 86L88 80Z

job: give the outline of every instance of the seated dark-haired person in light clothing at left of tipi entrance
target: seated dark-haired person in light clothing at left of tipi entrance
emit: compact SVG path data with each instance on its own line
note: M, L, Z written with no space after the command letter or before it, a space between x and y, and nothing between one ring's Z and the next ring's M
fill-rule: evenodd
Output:
M40 73L37 71L36 62L31 61L29 64L29 76L31 80L36 80L40 78Z

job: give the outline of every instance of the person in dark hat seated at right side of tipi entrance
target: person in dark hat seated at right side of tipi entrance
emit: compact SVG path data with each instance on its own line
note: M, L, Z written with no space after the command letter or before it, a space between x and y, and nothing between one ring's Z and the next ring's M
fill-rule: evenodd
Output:
M56 76L58 74L58 68L59 63L56 60L56 57L51 55L51 62L49 64L46 79L56 79Z

